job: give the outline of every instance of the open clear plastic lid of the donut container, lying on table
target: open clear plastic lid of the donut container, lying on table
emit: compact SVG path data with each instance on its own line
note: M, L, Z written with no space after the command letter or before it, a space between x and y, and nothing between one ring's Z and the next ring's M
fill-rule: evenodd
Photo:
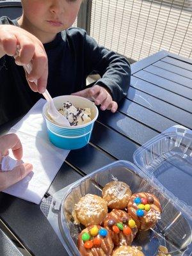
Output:
M134 163L192 220L192 131L175 125L142 145Z

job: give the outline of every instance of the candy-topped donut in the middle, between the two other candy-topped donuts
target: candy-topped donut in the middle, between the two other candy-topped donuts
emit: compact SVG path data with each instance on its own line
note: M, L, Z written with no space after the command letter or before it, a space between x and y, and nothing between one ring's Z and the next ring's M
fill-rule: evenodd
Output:
M115 246L131 245L138 227L127 212L116 210L109 212L103 221L103 226L111 232Z

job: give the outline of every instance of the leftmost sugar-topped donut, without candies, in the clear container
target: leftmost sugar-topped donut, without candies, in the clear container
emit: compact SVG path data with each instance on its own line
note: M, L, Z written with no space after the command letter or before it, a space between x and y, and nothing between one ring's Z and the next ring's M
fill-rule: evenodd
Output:
M72 216L74 223L82 223L85 227L100 225L108 213L106 201L97 195L87 194L75 205Z

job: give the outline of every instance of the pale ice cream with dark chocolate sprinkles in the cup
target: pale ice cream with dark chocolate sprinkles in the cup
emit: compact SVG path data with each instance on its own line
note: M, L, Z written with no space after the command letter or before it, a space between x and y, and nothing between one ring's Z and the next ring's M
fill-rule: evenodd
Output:
M58 111L67 118L72 126L87 124L92 120L90 108L76 108L68 101L63 103L62 108L58 109Z

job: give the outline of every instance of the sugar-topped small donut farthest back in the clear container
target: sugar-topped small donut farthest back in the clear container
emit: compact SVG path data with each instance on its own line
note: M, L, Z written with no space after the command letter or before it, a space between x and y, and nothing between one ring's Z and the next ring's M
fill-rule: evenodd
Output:
M131 189L122 181L111 181L102 189L102 197L110 209L125 209L131 197Z

